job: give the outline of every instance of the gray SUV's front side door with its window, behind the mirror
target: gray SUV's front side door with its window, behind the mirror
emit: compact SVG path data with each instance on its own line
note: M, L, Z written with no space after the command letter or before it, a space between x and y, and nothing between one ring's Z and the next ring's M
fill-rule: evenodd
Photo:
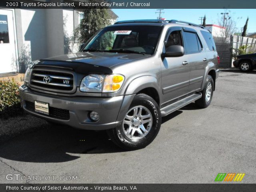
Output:
M168 46L184 46L181 27L171 27L166 36L163 52ZM186 49L185 49L186 50ZM162 58L162 94L163 102L174 100L188 93L190 68L188 56Z

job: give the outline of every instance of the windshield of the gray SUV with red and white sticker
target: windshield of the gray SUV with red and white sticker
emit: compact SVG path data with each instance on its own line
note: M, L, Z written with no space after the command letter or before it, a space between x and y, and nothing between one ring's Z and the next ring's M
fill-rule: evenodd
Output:
M153 54L161 26L111 26L101 30L83 51Z

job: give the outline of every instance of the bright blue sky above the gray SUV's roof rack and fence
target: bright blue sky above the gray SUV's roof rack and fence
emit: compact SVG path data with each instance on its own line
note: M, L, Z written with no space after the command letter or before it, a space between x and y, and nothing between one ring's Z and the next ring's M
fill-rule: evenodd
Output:
M118 21L137 19L157 19L156 9L112 9L118 15ZM247 33L256 32L256 9L230 9L230 14L236 20L237 32L241 32L247 17L249 17ZM162 18L176 19L201 24L199 17L206 15L206 24L218 24L223 9L164 9Z

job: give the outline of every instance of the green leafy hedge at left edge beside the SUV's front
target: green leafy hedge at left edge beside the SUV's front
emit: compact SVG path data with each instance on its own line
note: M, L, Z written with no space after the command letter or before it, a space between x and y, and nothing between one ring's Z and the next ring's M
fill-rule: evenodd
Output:
M0 117L8 118L23 113L20 106L19 85L11 82L0 81Z

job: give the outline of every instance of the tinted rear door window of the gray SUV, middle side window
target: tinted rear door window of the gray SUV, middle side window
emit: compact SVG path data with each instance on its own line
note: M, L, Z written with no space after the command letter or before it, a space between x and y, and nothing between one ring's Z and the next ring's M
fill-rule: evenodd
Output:
M196 33L184 32L184 35L188 53L200 52L202 50L201 42Z

